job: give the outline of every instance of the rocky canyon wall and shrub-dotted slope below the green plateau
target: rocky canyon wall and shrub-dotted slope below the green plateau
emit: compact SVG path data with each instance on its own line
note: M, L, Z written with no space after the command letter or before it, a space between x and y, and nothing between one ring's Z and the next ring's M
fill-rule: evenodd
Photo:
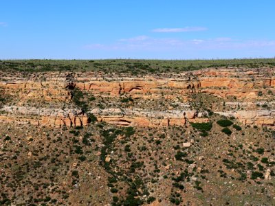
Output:
M0 71L3 205L274 205L275 69Z

